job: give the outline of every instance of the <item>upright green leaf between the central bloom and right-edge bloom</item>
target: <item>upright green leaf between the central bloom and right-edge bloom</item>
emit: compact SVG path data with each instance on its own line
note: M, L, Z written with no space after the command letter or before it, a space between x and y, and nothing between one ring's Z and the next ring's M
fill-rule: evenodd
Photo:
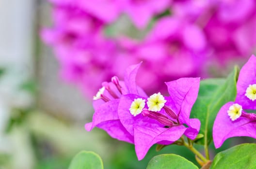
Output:
M191 118L201 121L200 134L204 135L196 143L207 144L212 141L213 122L220 108L228 101L236 98L236 84L239 70L234 71L226 79L207 79L200 82L198 98L193 105Z

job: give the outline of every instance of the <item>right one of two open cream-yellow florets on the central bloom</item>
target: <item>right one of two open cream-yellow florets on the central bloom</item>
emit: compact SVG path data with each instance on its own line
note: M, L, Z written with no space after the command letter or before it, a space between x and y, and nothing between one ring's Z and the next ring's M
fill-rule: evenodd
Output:
M147 99L148 110L152 112L158 112L164 106L166 100L164 97L158 92L158 94L153 94Z

